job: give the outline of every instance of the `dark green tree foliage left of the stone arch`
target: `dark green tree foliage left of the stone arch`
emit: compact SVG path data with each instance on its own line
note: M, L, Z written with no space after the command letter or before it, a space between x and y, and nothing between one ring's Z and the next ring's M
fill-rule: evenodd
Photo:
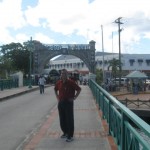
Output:
M0 47L1 72L12 73L21 70L24 74L29 71L29 50L20 43L10 43ZM6 77L7 78L7 77Z

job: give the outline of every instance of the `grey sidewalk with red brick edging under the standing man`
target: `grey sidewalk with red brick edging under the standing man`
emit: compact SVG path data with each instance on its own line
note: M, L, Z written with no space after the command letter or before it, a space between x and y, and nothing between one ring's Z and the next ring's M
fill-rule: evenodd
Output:
M57 106L53 108L40 129L28 140L23 150L116 150L112 137L108 136L106 122L88 86L74 103L75 133L72 142L61 139Z

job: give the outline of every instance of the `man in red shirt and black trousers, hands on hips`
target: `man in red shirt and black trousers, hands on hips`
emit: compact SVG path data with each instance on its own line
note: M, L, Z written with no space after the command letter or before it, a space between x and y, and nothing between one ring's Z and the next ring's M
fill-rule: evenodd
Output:
M58 100L60 128L63 132L61 138L66 138L66 142L71 142L74 135L74 100L80 94L81 88L68 78L67 70L63 69L54 91Z

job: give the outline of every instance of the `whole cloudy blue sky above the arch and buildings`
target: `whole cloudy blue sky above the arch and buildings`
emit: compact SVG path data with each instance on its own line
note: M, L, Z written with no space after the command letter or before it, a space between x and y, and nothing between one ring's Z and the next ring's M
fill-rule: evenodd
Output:
M96 51L150 53L149 0L0 0L0 45L38 40L44 44L87 44ZM112 38L113 33L113 38ZM113 43L113 44L112 44Z

